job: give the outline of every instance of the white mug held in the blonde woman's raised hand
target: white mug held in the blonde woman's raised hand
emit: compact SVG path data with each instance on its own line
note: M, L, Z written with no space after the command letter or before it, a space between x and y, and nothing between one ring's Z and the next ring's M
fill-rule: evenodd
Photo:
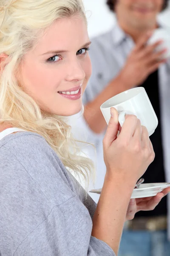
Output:
M149 136L152 135L158 125L158 119L150 103L144 87L135 87L104 102L100 109L108 124L111 118L111 107L119 113L119 123L122 126L125 122L125 114L136 115L141 125L146 126Z

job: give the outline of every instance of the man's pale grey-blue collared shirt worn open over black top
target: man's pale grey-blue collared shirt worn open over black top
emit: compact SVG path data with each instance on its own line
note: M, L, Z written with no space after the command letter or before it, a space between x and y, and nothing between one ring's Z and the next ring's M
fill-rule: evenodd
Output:
M108 83L119 74L135 46L133 39L126 35L118 24L111 31L99 35L91 41L89 54L92 62L92 76L83 96L84 105L94 100L99 93L102 93ZM170 60L159 67L159 93L165 176L166 181L170 182ZM78 115L76 116L78 117ZM75 127L79 127L73 129L74 134L79 139L96 145L96 154L91 146L85 148L84 152L96 162L95 188L101 188L106 172L102 148L102 139L105 132L95 134L82 116L78 118ZM98 201L99 195L92 193L90 195L96 202ZM170 215L170 198L168 212Z

